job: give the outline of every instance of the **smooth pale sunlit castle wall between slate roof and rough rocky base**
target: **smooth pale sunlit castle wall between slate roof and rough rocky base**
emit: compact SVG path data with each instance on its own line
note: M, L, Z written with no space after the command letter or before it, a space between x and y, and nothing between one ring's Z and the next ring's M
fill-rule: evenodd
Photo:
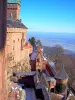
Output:
M21 40L26 37L26 29L21 28L7 28L7 39L6 39L6 47L7 52L6 54L12 53L13 61L20 62L25 59L25 57L29 56L29 48L24 47L24 43L22 46ZM24 37L22 34L24 33ZM24 47L21 49L21 47ZM10 66L13 66L13 61L11 62Z

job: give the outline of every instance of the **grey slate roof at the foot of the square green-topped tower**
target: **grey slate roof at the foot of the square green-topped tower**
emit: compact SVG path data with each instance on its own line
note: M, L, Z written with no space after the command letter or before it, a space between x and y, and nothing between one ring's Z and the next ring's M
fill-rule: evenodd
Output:
M7 27L8 28L24 28L28 29L20 20L10 20L7 19Z

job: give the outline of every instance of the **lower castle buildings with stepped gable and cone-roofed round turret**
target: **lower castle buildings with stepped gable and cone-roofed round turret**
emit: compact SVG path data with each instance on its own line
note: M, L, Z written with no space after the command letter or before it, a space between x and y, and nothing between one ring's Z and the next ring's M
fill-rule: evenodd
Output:
M56 71L55 67L49 64L40 47L31 54L31 69L37 71L34 78L37 84L35 87L36 90L42 89L44 100L55 100L55 98L63 100L66 97L69 77L64 66L60 66L59 71Z

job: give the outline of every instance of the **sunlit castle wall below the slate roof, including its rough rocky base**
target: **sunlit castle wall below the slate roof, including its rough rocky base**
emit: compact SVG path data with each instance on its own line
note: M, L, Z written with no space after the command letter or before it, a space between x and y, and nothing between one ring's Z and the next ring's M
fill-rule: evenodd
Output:
M26 29L7 28L6 39L6 61L7 61L7 83L9 86L10 77L13 72L29 72L30 49L25 47Z

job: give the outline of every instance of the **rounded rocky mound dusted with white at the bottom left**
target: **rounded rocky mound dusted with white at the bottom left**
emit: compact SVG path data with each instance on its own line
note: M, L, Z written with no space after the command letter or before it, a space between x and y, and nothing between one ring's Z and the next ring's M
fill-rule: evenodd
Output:
M9 84L8 100L26 100L26 92L16 83Z

